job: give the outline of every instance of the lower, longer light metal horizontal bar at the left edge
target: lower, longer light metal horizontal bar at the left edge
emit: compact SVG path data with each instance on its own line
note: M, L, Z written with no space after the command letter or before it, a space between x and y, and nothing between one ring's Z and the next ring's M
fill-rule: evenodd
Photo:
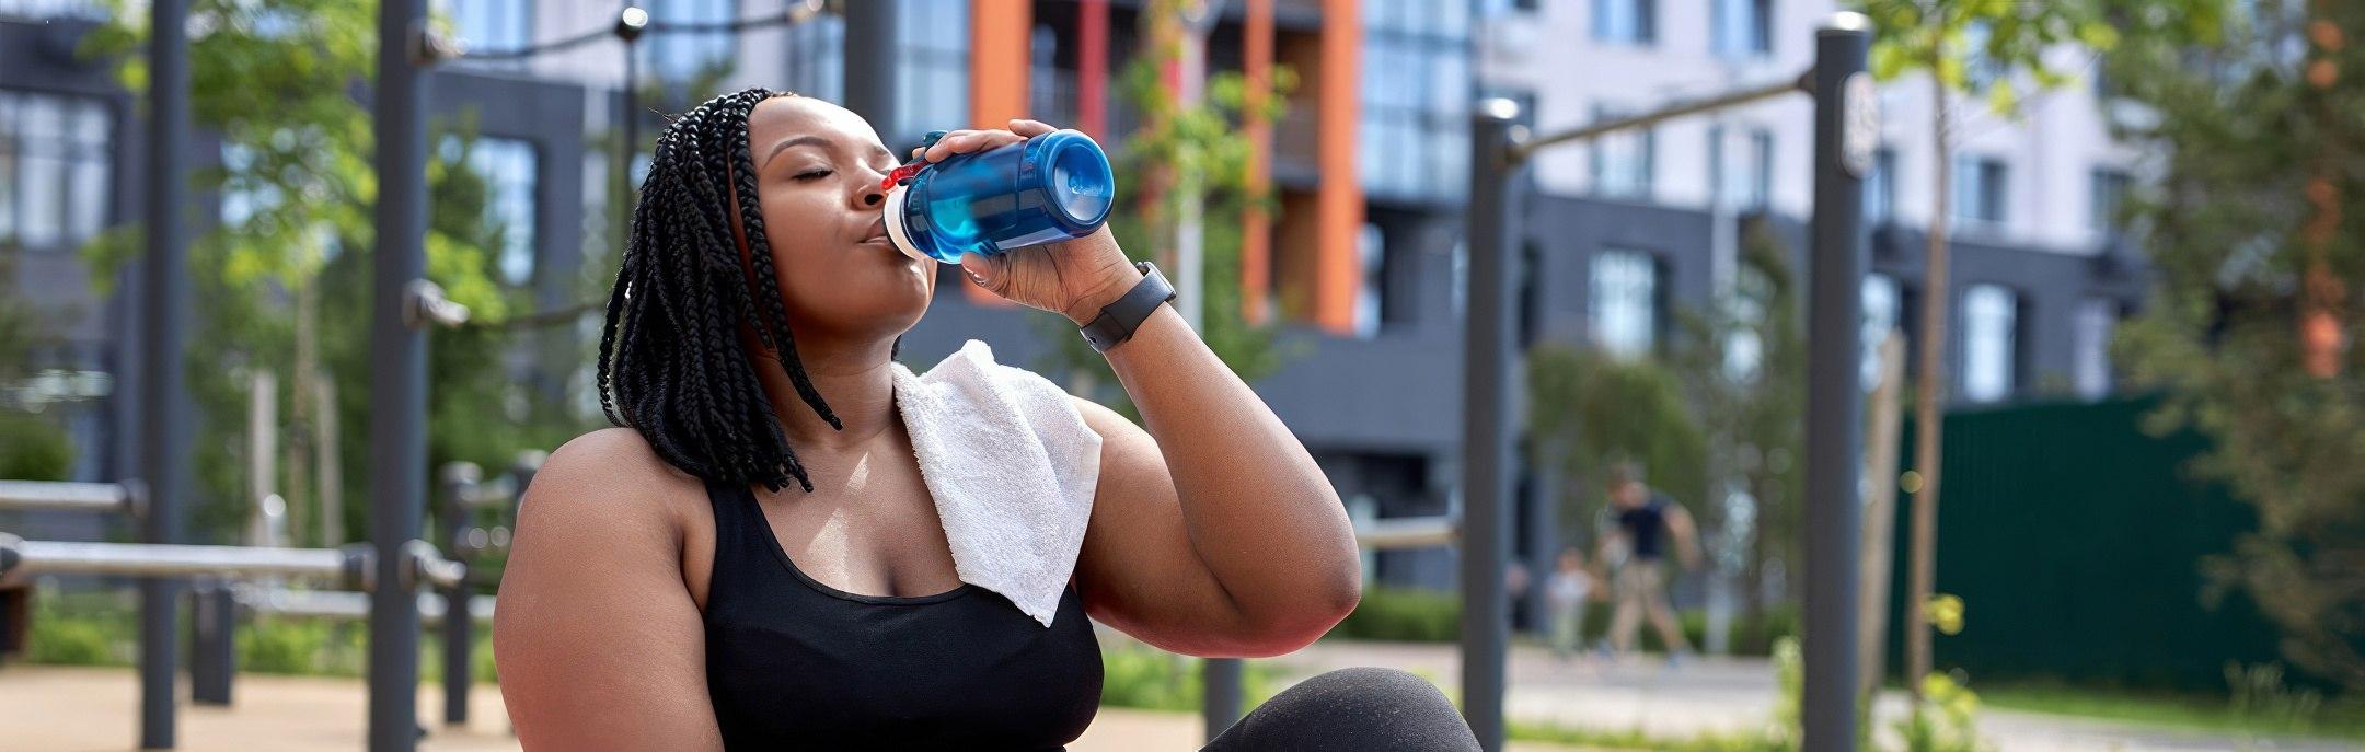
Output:
M345 549L258 549L258 546L180 546L180 544L88 544L24 542L0 537L0 560L26 575L125 575L125 577L329 577L345 586L367 586L369 546ZM14 575L14 572L9 572Z

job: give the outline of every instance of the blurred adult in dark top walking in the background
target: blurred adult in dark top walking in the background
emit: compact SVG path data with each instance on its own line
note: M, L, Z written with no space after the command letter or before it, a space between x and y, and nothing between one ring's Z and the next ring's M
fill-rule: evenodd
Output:
M1618 525L1601 537L1601 560L1611 563L1613 551L1625 551L1625 563L1618 565L1615 575L1618 608L1611 615L1611 650L1629 653L1634 648L1634 629L1648 615L1651 627L1658 627L1660 643L1667 646L1667 662L1677 662L1684 653L1691 653L1691 646L1684 641L1684 629L1677 624L1674 610L1667 608L1667 575L1660 560L1672 539L1677 556L1684 558L1684 568L1698 568L1698 530L1684 506L1644 485L1641 466L1637 463L1613 463L1606 492L1611 508L1618 513Z

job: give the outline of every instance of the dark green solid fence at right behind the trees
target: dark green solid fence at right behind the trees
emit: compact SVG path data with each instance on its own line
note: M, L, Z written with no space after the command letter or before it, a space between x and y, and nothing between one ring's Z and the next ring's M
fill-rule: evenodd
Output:
M2199 560L2230 551L2254 516L2185 468L2204 437L2140 430L2155 407L2114 400L1946 416L1937 591L1963 596L1965 629L1937 636L1939 669L1975 681L2223 691L2228 660L2277 660L2275 627L2249 598L2202 603ZM1911 421L1904 437L1899 456L1911 461ZM1911 530L1901 497L1897 601ZM1890 624L1894 674L1904 638Z

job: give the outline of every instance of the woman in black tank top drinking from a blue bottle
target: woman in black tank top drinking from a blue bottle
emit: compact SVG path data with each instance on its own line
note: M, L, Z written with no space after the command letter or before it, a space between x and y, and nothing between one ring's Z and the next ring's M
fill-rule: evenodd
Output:
M960 130L920 156L1048 130ZM885 239L894 166L851 111L764 90L660 137L601 336L620 428L542 466L501 582L494 655L527 747L1060 750L1100 702L1086 615L1166 650L1253 657L1355 608L1339 497L1166 305L1107 350L1149 430L1057 400L1097 435L1057 610L1029 617L963 582L972 563L955 572L929 490L955 480L922 475L899 409L913 381L896 338L937 274ZM1078 324L1142 281L1107 229L963 265ZM1426 681L1343 669L1209 750L1476 747Z

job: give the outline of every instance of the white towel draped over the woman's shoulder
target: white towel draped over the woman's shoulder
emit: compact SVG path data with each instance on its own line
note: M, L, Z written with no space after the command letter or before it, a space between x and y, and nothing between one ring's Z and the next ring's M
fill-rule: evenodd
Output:
M979 341L927 376L894 364L894 400L960 582L1050 627L1093 520L1100 433L1067 390Z

